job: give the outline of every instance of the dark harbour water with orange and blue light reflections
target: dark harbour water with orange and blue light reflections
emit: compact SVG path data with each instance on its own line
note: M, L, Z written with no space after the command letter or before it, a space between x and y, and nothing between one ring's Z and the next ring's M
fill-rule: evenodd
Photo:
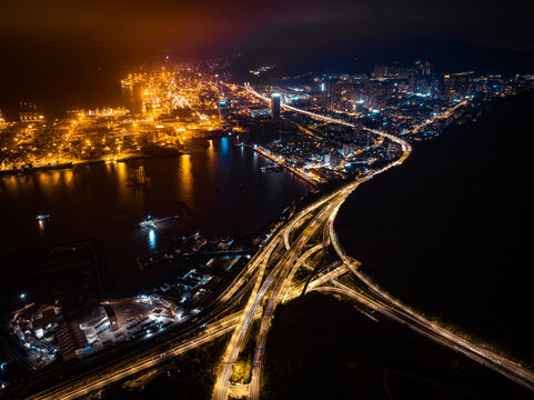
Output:
M212 140L209 148L206 140L187 142L191 156L0 178L0 253L102 238L118 283L130 286L148 278L135 258L168 246L154 231L133 228L147 214L180 214L160 224L171 234L251 232L276 219L310 186L286 171L261 172L268 160L250 148L234 148L236 140ZM131 183L139 166L149 178L142 189ZM36 221L41 212L51 216L42 224Z

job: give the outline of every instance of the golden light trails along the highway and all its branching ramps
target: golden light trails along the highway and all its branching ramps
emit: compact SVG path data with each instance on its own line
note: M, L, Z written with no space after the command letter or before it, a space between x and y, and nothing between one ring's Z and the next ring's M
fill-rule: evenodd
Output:
M260 93L254 91L249 84L245 84L245 89L253 96L256 96L265 101L270 101L269 98L261 96ZM283 103L281 104L281 107L295 112L308 114L314 119L323 120L325 122L339 123L355 128L354 124L346 121L333 119L305 110L300 110ZM278 231L278 233L275 233L270 239L269 244L263 248L238 274L232 284L228 287L214 301L214 303L218 304L216 308L204 318L204 320L206 321L205 323L210 323L210 327L203 330L202 333L197 334L193 339L188 339L187 342L183 342L183 340L179 341L173 339L172 343L175 343L174 347L172 349L164 350L157 356L150 354L142 357L139 360L133 359L133 361L131 359L127 359L125 361L121 361L121 363L112 364L112 367L109 368L109 372L98 371L92 374L84 376L82 379L78 379L71 382L62 382L59 386L46 390L39 394L28 397L28 399L67 400L84 396L93 390L103 388L109 383L117 382L133 373L151 368L169 358L175 357L184 351L206 343L210 340L213 340L233 330L233 334L230 339L229 347L226 348L223 363L221 364L221 368L219 370L218 380L213 391L213 399L226 399L230 376L233 370L233 363L239 356L239 351L242 349L246 331L250 327L250 323L256 318L261 317L261 301L264 299L272 284L275 283L272 290L271 298L269 299L269 304L263 312L262 328L260 329L260 337L258 340L260 357L258 359L259 362L254 367L254 373L251 382L251 398L258 399L261 378L261 353L272 313L274 312L275 307L280 302L294 299L302 291L303 286L291 287L294 273L302 264L304 264L309 256L311 256L314 251L318 251L320 247L323 247L326 239L330 240L342 262L341 266L334 266L332 270L324 272L318 278L313 279L309 284L309 288L311 290L335 292L352 298L370 307L371 309L410 327L414 331L417 331L419 333L424 334L425 337L443 346L446 346L450 349L463 353L472 360L475 360L484 366L492 368L493 370L496 370L497 372L514 380L515 382L523 384L525 388L534 390L534 377L532 374L525 372L518 366L513 364L511 361L500 356L496 356L484 349L480 349L476 346L468 343L464 339L455 337L453 333L444 330L441 327L435 326L434 323L425 320L423 317L407 309L405 306L402 306L399 301L392 299L387 293L384 293L377 286L372 283L369 278L363 276L357 270L357 261L352 261L344 254L344 251L341 248L339 239L333 229L333 223L341 204L344 202L346 197L352 193L361 183L366 182L374 176L382 173L390 168L402 164L409 158L412 151L410 143L407 143L401 138L369 128L364 129L373 134L379 136L380 138L386 138L393 142L399 143L403 150L402 156L397 160L383 167L382 169L362 176L357 180L350 182L346 186L333 191L332 193L315 201L313 204L304 208L296 216L292 217L292 219L288 221ZM313 220L308 224L308 227L299 236L295 242L290 243L290 234L292 230L299 224L299 222L302 222L304 218L308 218L315 210L319 210L323 206L324 209L321 210L318 216L315 216L315 218L313 218ZM324 231L328 232L328 236L323 234L323 243L306 250L303 256L299 257L299 254L304 250L304 246L311 240L315 232L321 229L321 227L324 227ZM280 259L280 261L276 262L276 266L274 266L269 277L262 282L272 253L275 248L281 243L283 243L286 253L282 257L282 259ZM359 282L366 289L365 293L357 293L352 289L346 288L335 281L335 278L340 277L343 273L346 273L347 271L354 273L354 276L359 279ZM224 313L225 304L228 304L234 297L236 297L240 290L246 290L251 280L254 281L254 287L252 289L252 294L249 298L245 309L243 311L239 311L225 318L219 319ZM326 282L332 282L334 287L321 287L321 284Z

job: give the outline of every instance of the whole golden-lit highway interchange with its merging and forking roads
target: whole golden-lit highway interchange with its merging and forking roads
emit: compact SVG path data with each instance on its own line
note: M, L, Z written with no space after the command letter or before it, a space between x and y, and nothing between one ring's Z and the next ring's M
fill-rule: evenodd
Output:
M245 89L251 94L270 101L249 84L245 84ZM354 127L346 121L300 110L289 104L282 103L281 106L314 119ZM259 399L266 332L276 307L281 302L301 296L305 282L295 279L295 274L301 268L312 273L306 290L343 296L534 391L533 374L512 361L470 343L415 313L373 283L360 271L360 263L344 253L334 231L334 221L340 207L360 184L390 168L402 164L412 151L410 143L401 138L377 130L366 130L399 143L402 148L402 156L384 168L367 172L323 196L288 219L274 231L266 244L251 259L232 284L219 296L213 307L204 310L194 323L189 324L187 332L179 332L174 337L168 338L167 342L154 346L150 351L131 354L118 362L98 368L90 373L67 380L27 398L36 400L74 399L158 366L172 357L231 332L230 341L216 371L212 399L223 400L229 397L233 366L246 340L255 341L249 398ZM326 251L328 248L333 249L339 261L329 266L313 264L313 260L318 259L318 253ZM322 260L322 257L320 259ZM340 276L346 273L351 274L354 288L349 288L337 281ZM249 292L250 296L244 308L229 314L230 306L235 304L236 299L241 299ZM258 319L260 320L258 337L248 338L251 323Z

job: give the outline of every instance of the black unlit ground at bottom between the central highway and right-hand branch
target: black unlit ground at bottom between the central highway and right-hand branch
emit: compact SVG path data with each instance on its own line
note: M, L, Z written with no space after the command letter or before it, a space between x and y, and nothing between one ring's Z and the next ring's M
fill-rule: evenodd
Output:
M276 310L264 360L261 399L531 398L496 372L316 292Z

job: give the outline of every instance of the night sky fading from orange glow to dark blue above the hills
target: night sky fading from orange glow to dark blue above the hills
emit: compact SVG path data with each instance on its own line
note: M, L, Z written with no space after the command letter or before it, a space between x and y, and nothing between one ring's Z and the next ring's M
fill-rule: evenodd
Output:
M532 51L533 11L516 0L17 0L1 1L0 42L9 54L215 54L271 44L283 32L292 46L431 37Z

